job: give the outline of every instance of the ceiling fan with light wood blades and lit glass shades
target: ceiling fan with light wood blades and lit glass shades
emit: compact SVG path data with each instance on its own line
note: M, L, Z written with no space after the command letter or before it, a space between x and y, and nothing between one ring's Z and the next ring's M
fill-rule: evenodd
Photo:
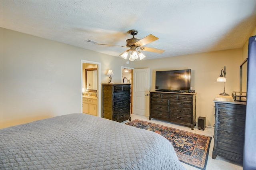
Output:
M124 46L124 45L114 45L114 46L129 48L126 51L124 51L123 53L120 54L120 56L124 59L127 59L127 56L128 56L130 51L132 51L131 54L130 54L130 57L129 57L130 61L134 61L138 57L140 57L140 60L142 60L146 57L139 50L150 51L150 52L154 52L154 53L163 53L165 51L165 50L162 50L162 49L156 49L156 48L144 47L143 46L143 45L146 45L148 43L154 42L154 41L159 39L156 36L153 36L152 34L149 34L148 36L146 36L146 37L144 37L140 40L138 38L134 38L134 36L136 36L138 34L137 30L129 30L128 33L132 35L132 38L126 40L126 46ZM110 44L102 44L102 43L96 43L96 44L97 45L110 45Z

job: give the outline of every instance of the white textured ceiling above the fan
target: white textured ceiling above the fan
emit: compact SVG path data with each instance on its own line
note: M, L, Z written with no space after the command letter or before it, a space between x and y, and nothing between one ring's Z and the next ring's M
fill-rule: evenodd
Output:
M128 30L158 37L145 59L240 48L256 26L256 1L1 0L0 26L120 57Z

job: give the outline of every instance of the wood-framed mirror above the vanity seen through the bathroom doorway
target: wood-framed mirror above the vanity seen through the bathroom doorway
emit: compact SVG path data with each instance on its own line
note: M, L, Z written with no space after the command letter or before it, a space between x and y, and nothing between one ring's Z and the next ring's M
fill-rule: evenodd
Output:
M85 69L86 91L97 92L97 68Z

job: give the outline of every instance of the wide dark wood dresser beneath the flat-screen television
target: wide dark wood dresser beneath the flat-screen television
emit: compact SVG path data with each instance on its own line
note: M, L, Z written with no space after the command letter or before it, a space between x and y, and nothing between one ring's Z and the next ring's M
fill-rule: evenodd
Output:
M150 116L180 125L196 125L196 93L150 91Z

